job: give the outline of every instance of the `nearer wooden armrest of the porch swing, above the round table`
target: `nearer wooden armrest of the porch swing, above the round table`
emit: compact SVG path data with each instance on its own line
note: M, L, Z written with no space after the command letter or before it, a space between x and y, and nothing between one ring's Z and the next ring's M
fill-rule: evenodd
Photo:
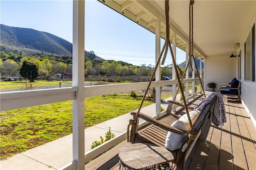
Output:
M135 116L136 113L132 112L131 115ZM182 131L180 129L177 129L176 127L172 127L171 125L168 125L167 123L161 122L159 120L156 120L144 113L139 113L139 118L148 121L149 123L156 125L157 127L160 127L161 129L164 129L166 131L174 132L180 135L183 135L184 133L188 133L187 131Z

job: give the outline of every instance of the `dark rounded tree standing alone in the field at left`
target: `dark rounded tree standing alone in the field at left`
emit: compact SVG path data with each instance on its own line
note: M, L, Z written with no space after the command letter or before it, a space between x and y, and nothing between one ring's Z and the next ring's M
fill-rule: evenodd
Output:
M30 61L24 61L20 68L20 75L30 79L30 82L34 82L35 78L39 76L38 66Z

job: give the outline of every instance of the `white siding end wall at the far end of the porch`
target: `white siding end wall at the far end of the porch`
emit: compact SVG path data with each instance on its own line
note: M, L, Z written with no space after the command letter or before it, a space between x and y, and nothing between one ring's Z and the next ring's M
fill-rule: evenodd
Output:
M204 69L206 71L205 83L214 82L217 84L215 91L220 90L220 86L228 85L236 77L236 59L230 58L230 54L221 56L208 56L205 59ZM205 89L209 88L205 84Z

